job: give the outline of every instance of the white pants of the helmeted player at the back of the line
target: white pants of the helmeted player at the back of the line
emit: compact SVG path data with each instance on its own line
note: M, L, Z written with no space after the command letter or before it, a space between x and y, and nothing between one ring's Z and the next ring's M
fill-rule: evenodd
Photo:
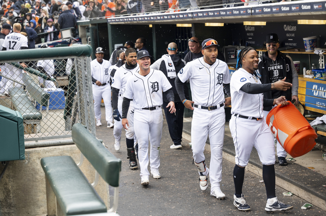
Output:
M105 105L105 120L112 122L112 104L111 104L111 86L110 84L98 86L93 84L93 99L94 99L94 110L95 118L101 119L101 102L102 98Z

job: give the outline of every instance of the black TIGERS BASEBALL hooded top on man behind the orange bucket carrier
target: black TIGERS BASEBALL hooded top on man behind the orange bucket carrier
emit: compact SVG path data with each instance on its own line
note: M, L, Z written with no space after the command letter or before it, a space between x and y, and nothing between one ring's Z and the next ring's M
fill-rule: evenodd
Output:
M277 57L275 61L268 57L266 51L260 58L258 63L258 69L261 75L261 83L275 83L286 77L286 82L292 83L292 68L291 59L285 54L277 50ZM291 100L292 89L287 91L272 90L264 93L264 98L275 99L280 96L285 96L287 100ZM272 107L264 107L265 111L270 111Z

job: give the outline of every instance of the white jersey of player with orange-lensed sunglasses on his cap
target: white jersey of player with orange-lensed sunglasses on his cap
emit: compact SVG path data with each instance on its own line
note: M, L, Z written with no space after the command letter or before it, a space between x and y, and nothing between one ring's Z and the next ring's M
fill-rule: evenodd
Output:
M190 80L192 99L197 105L215 106L224 102L223 83L230 83L228 65L216 59L210 66L204 57L190 61L178 73L181 82Z

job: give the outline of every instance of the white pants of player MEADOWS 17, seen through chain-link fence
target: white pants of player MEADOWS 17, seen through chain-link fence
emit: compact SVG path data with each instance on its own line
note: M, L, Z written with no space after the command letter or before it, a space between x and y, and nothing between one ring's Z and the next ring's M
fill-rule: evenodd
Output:
M2 69L4 69L4 70L2 70ZM14 67L11 64L5 63L5 65L2 65L1 73L9 78L16 80L17 82L24 83L22 81L22 70ZM2 78L2 79L4 79L4 78ZM7 93L9 88L14 87L13 81L7 80L7 79L5 79L4 81L6 81L6 83L2 84L3 90L1 90L1 93ZM15 87L20 87L20 86L22 86L22 85L19 83L15 83Z

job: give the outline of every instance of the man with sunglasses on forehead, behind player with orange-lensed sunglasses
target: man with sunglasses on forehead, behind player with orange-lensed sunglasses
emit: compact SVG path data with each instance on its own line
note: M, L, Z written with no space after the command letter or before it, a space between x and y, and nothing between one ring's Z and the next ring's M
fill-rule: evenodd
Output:
M184 60L186 63L193 61L197 58L203 57L203 54L201 53L202 46L199 44L199 40L197 37L190 38L188 40L188 46L189 46L190 52L188 52L185 55ZM219 59L221 61L225 61L225 58L221 52L217 53L217 59Z

